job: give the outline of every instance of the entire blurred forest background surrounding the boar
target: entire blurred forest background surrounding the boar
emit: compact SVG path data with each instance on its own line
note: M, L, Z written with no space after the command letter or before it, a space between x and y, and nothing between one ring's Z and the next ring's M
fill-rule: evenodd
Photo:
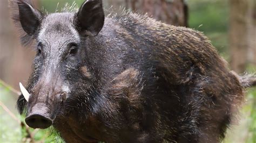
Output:
M239 74L256 69L255 0L103 0L106 13L122 12L120 6L147 13L164 23L186 26L204 32L228 63ZM34 0L37 8L49 13L60 11L73 0ZM84 1L75 1L79 6ZM57 11L57 12L58 12ZM35 51L19 44L18 31L12 24L8 1L0 1L0 142L61 141L49 137L49 130L32 130L18 116L15 89L26 83ZM13 87L13 88L12 88ZM256 142L256 89L248 90L240 121L228 130L224 142Z

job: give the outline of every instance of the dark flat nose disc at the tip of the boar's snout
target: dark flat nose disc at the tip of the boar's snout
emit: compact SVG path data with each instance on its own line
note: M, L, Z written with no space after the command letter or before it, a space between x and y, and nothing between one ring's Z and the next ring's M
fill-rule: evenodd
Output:
M25 122L32 128L48 128L53 123L50 118L39 114L33 114L26 117Z

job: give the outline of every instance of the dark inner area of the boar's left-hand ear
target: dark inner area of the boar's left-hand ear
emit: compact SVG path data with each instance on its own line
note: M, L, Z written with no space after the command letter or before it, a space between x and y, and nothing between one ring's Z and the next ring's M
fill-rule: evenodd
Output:
M37 28L41 23L42 13L34 9L29 3L18 1L19 22L23 30L29 34L35 34Z

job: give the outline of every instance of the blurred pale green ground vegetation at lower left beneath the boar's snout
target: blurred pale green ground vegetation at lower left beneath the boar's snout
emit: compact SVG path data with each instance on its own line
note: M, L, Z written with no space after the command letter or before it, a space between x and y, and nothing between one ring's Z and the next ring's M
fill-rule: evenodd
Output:
M33 135L33 141L64 142L53 128L46 130L26 129L24 117L18 115L15 109L18 95L12 93L10 89L11 87L5 87L0 81L0 142L30 142L29 135ZM8 111L3 106L6 106ZM15 117L12 117L12 114Z

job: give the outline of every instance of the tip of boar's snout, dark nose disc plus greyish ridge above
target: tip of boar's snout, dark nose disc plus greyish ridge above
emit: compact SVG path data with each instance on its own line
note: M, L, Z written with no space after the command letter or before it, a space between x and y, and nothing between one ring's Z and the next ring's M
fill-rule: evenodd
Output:
M32 128L48 128L53 124L50 109L43 104L33 106L25 122Z

